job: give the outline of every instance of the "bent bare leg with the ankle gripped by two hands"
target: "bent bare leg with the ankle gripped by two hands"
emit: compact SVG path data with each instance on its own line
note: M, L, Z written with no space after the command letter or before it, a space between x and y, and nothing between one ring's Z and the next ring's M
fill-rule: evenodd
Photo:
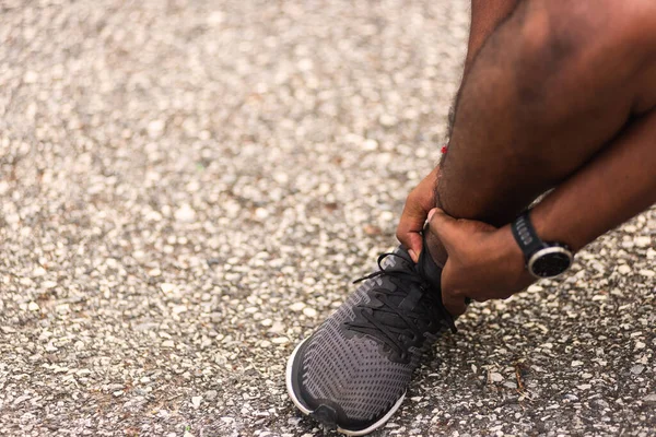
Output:
M437 206L504 225L594 160L655 102L655 16L648 2L519 4L465 78Z

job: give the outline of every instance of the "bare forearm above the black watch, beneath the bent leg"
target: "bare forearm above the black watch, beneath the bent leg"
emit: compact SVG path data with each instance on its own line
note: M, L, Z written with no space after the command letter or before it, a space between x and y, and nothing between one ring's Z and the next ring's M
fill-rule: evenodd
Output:
M578 250L656 203L656 111L634 122L531 213L546 241Z

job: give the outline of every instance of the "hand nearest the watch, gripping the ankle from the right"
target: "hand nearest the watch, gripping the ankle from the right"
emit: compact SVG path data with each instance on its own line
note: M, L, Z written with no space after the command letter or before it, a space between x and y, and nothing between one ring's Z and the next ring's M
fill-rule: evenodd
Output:
M506 299L536 279L509 225L496 228L483 222L456 220L435 208L429 213L430 232L444 245L448 259L442 270L442 302L453 316L465 312L465 298Z

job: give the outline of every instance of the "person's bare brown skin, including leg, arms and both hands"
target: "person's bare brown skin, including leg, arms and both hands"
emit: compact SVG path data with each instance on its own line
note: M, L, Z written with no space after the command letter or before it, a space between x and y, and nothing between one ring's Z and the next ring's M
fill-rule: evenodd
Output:
M515 3L472 2L448 152L397 231L415 257L437 206L427 245L453 315L535 281L509 223L544 191L538 235L574 250L656 202L656 7Z

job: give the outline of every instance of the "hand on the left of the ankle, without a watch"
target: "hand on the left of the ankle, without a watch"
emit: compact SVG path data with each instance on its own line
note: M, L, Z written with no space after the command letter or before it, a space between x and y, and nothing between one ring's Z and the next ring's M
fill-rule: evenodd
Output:
M435 206L434 191L437 186L437 173L435 167L406 199L406 206L401 220L397 226L397 238L408 249L408 253L414 262L419 260L422 249L421 232L429 216L429 211Z

